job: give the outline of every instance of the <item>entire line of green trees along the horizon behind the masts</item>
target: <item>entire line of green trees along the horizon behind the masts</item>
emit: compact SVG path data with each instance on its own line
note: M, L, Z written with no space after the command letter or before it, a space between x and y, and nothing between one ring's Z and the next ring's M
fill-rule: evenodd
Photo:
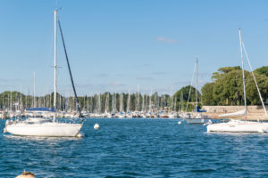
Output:
M268 98L268 67L255 69L255 78L263 100ZM247 105L260 105L254 78L245 71ZM198 107L202 105L243 105L242 71L239 66L224 67L214 72L213 82L206 83L201 92L197 91ZM112 110L148 110L155 109L187 110L195 109L196 88L190 85L180 88L173 95L142 93L96 93L92 96L79 96L80 109L89 112ZM0 93L0 109L53 108L54 93L33 97L16 91ZM129 104L130 103L130 104ZM57 93L56 109L76 110L73 96L65 97Z

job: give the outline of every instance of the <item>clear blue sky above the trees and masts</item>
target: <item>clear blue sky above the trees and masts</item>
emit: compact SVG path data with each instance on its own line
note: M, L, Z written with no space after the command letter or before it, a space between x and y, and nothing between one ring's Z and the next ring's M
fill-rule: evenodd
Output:
M199 89L240 65L239 28L253 69L268 65L266 0L0 0L0 92L53 91L54 9L78 95ZM58 91L72 95L57 37ZM246 65L246 69L248 65Z

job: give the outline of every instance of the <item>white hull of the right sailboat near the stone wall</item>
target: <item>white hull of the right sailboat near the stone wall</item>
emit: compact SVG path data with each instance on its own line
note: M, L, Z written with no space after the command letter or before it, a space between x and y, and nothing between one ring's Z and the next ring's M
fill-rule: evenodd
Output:
M207 125L207 132L267 133L268 123L231 120L227 123Z

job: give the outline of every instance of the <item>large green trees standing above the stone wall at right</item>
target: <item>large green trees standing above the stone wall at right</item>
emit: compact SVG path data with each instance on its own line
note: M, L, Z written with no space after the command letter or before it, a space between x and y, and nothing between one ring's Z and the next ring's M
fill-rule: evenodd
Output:
M268 67L255 69L255 78L262 93L263 100L268 98ZM202 87L203 105L242 105L243 81L242 71L239 66L225 67L214 72L213 82ZM247 105L260 105L255 81L250 72L245 70Z

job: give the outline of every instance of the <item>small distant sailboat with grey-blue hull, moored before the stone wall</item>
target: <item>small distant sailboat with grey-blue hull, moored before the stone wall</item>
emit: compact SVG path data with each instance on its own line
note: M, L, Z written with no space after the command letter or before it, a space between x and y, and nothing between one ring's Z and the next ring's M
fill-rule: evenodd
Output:
M197 112L197 104L198 104L198 90L197 90L197 65L198 60L196 60L196 112L190 115L186 115L186 122L188 124L205 124L209 122L209 118ZM190 94L190 93L189 93ZM188 116L188 117L187 117Z

